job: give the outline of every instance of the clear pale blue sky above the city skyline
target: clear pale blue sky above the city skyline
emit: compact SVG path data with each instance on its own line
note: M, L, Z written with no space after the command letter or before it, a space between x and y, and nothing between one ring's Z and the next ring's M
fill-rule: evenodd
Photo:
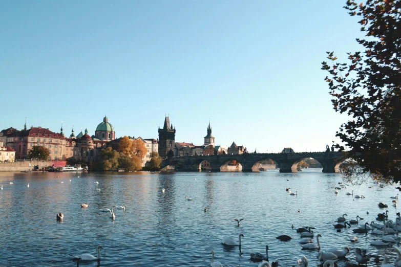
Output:
M0 128L67 135L107 114L116 136L248 150L324 150L347 117L330 102L326 51L362 36L344 1L2 1Z

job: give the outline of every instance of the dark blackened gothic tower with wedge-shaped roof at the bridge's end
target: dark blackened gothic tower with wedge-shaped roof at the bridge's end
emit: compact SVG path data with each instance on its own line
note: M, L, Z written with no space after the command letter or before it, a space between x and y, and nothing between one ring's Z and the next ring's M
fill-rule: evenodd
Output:
M170 126L170 118L166 116L163 128L159 126L159 155L161 158L174 157L176 129Z

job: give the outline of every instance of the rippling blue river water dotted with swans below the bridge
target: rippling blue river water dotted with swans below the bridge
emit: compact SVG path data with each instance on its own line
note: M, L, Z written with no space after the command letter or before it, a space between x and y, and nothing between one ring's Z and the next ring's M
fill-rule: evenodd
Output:
M317 252L301 250L300 234L291 225L315 227L315 234L322 235L322 250L348 246L350 262L355 262L355 248L381 259L388 254L393 262L391 248L369 244L380 237L353 234L356 226L338 233L333 224L344 213L370 222L385 212L379 202L389 205L389 218L395 220L397 208L390 196L398 190L372 182L342 188L336 195L334 187L341 181L340 174L321 170L0 173L0 266L76 266L72 259L82 253L96 256L98 244L103 248L101 266L209 266L212 250L224 266L258 266L249 254L265 253L266 245L270 261L280 266L292 266L302 255L309 266L318 266ZM288 187L298 191L297 196L289 195ZM365 198L353 200L345 194L351 190ZM185 201L185 196L193 201ZM81 208L82 203L89 207ZM125 212L115 210L115 220L99 211L113 205L126 205ZM58 212L64 213L62 222L56 221ZM237 227L234 218L245 219ZM224 236L238 240L241 233L241 251L221 244ZM276 239L283 234L292 240ZM349 241L353 235L359 238L355 243ZM371 260L368 266L378 264Z

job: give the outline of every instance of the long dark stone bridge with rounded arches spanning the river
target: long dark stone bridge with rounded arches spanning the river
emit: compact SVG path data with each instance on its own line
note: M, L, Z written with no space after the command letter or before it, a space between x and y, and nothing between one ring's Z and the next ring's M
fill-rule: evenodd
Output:
M212 165L212 171L220 171L220 167L231 161L242 165L242 171L259 171L264 160L273 160L280 166L281 172L297 172L300 161L313 158L323 166L323 172L339 172L343 152L300 152L300 153L246 153L241 155L197 155L175 157L162 161L163 170L199 171L200 164L206 160Z

